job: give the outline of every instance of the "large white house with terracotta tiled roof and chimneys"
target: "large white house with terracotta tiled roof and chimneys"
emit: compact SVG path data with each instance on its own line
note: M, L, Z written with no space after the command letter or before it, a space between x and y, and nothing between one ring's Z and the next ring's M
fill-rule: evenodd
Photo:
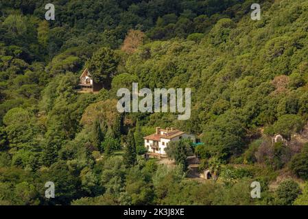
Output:
M161 129L160 127L156 128L156 133L145 136L143 139L148 152L165 155L165 148L169 145L169 142L174 142L182 138L188 138L196 142L196 137L193 135L174 128Z

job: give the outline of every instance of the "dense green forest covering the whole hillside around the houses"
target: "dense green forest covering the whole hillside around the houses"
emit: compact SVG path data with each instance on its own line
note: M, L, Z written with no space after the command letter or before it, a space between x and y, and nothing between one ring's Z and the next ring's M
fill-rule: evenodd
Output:
M252 0L47 3L0 0L0 205L308 205L307 1L259 1L259 21ZM119 113L132 82L191 88L191 118ZM203 144L145 160L155 127ZM189 155L217 177L187 177Z

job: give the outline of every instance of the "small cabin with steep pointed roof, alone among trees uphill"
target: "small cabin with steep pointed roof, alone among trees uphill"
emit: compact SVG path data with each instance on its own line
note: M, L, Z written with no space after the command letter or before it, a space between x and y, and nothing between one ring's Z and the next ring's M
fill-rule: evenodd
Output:
M103 88L103 83L95 83L88 68L86 68L80 76L79 86L82 92L99 92L99 90L102 90Z

